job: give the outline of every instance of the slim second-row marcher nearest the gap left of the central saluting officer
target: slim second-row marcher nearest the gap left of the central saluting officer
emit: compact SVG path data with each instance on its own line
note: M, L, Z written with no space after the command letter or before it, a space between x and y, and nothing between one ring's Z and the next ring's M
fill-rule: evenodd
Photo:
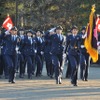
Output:
M36 45L37 45L37 53L36 53L36 77L42 75L43 69L43 38L41 37L42 32L40 30L36 31Z

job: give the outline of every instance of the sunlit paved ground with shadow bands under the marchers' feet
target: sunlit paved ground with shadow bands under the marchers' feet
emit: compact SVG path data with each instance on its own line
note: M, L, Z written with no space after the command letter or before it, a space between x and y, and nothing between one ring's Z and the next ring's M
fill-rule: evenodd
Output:
M78 80L78 87L71 86L64 77L63 83L56 85L44 68L41 78L17 78L16 84L0 79L0 100L100 100L100 67L91 67L88 82Z

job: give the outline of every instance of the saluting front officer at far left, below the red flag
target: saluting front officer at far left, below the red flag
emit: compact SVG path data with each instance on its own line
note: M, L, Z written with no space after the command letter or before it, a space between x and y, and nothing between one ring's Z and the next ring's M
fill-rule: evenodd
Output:
M9 71L9 82L15 83L15 62L16 62L16 45L18 43L17 37L15 36L17 32L16 27L12 27L10 32L5 32L2 34L2 38L5 40L3 47L3 57L5 64Z

